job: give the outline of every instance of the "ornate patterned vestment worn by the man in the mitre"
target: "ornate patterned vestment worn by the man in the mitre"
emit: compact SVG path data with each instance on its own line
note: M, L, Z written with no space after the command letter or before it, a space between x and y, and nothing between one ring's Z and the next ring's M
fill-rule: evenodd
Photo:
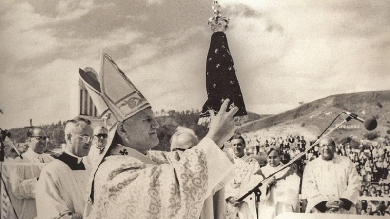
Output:
M122 145L108 153L95 174L86 218L199 219L204 200L232 168L209 138L173 164Z

